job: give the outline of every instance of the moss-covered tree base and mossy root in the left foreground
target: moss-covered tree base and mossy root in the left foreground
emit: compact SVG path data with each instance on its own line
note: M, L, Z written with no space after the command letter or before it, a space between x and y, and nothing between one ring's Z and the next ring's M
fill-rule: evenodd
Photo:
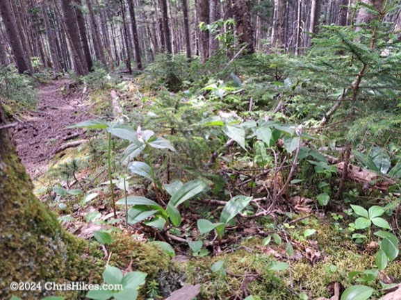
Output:
M44 283L78 281L101 283L106 259L99 244L70 235L33 194L33 185L15 153L0 106L0 299L16 295L41 299L51 294L65 299L83 299L86 292L46 291ZM147 272L155 278L167 270L167 255L161 249L130 237L117 236L109 246L111 265ZM12 291L12 282L42 283L42 290Z

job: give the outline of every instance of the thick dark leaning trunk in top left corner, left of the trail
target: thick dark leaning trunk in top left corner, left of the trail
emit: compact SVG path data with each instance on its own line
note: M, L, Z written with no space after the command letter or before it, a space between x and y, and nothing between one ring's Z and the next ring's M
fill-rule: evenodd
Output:
M24 51L22 42L18 34L15 20L13 19L13 10L11 9L9 0L0 0L0 13L3 18L4 26L6 27L6 33L8 40L10 41L11 49L15 58L15 64L19 73L33 73L33 67L28 53Z

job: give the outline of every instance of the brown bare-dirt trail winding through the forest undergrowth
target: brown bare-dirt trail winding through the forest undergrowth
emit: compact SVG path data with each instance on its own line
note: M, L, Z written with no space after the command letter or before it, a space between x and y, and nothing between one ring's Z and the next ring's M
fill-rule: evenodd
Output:
M38 88L38 106L24 115L14 130L17 153L32 178L47 171L49 160L63 144L83 139L82 129L65 127L92 117L85 113L88 101L82 94L62 93L69 81L51 81Z

